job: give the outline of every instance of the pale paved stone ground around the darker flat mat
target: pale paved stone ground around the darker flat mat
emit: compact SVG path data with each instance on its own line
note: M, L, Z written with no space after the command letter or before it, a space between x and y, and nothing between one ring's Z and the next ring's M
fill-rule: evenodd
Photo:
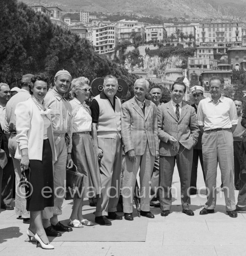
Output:
M217 186L221 184L218 168ZM161 217L160 209L151 208L154 219L148 219L145 242L55 242L55 250L36 248L35 243L27 242L25 230L28 225L16 220L14 211L0 212L0 255L97 255L97 256L131 256L131 255L168 255L168 256L227 256L246 255L246 213L238 213L238 218L225 214L223 192L218 188L217 205L214 214L199 215L206 197L204 181L199 166L199 195L192 196L192 210L195 216L182 213L180 205L180 183L178 171L174 171L173 186L177 190L173 196L172 212L168 217ZM235 191L236 201L238 192ZM67 204L68 201L64 201ZM137 218L137 217L136 217ZM144 217L141 217L144 218ZM124 225L126 220L122 221ZM93 227L86 227L93 228ZM86 231L81 229L81 232ZM107 232L107 227L105 227ZM131 232L131 230L129 230ZM26 241L25 241L26 240Z

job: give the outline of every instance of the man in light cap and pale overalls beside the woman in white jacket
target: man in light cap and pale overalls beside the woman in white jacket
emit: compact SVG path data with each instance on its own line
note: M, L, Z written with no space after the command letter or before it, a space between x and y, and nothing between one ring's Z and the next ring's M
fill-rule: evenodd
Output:
M61 236L59 231L72 231L58 221L62 214L61 206L64 200L64 183L66 167L72 168L72 108L64 98L71 85L72 77L67 70L55 74L53 89L45 96L45 103L51 109L51 121L55 139L57 161L54 163L54 207L46 207L42 211L42 223L47 236ZM49 220L50 219L50 220Z

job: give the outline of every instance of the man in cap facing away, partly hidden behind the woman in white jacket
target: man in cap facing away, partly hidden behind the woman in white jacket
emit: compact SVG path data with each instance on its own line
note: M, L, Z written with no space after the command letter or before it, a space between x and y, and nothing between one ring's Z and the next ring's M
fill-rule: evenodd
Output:
M13 159L13 166L15 171L15 213L18 219L23 218L23 222L28 224L30 222L30 212L26 210L26 199L25 199L25 188L20 188L17 184L21 179L21 166L20 161L16 158L15 152L17 149L16 142L16 116L15 108L19 102L26 101L31 97L29 92L29 85L31 85L31 78L34 77L32 74L25 74L21 79L21 89L18 94L10 98L6 104L6 113L4 121L4 133L9 137L8 139L8 150L11 158Z

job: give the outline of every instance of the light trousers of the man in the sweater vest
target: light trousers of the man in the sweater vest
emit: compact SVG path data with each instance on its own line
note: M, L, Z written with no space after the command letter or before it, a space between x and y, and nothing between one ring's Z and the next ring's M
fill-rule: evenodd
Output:
M98 147L103 154L100 166L102 193L98 195L96 217L117 211L122 165L121 138L119 135L115 139L98 138Z

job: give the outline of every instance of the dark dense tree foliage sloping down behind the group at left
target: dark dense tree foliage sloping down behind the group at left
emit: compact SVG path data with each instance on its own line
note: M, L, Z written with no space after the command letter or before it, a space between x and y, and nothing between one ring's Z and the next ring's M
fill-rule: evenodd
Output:
M63 30L50 19L16 0L2 0L0 17L0 81L11 87L26 73L45 73L51 81L59 69L72 77L96 77L111 74L127 81L130 91L136 76L98 55L86 39Z

